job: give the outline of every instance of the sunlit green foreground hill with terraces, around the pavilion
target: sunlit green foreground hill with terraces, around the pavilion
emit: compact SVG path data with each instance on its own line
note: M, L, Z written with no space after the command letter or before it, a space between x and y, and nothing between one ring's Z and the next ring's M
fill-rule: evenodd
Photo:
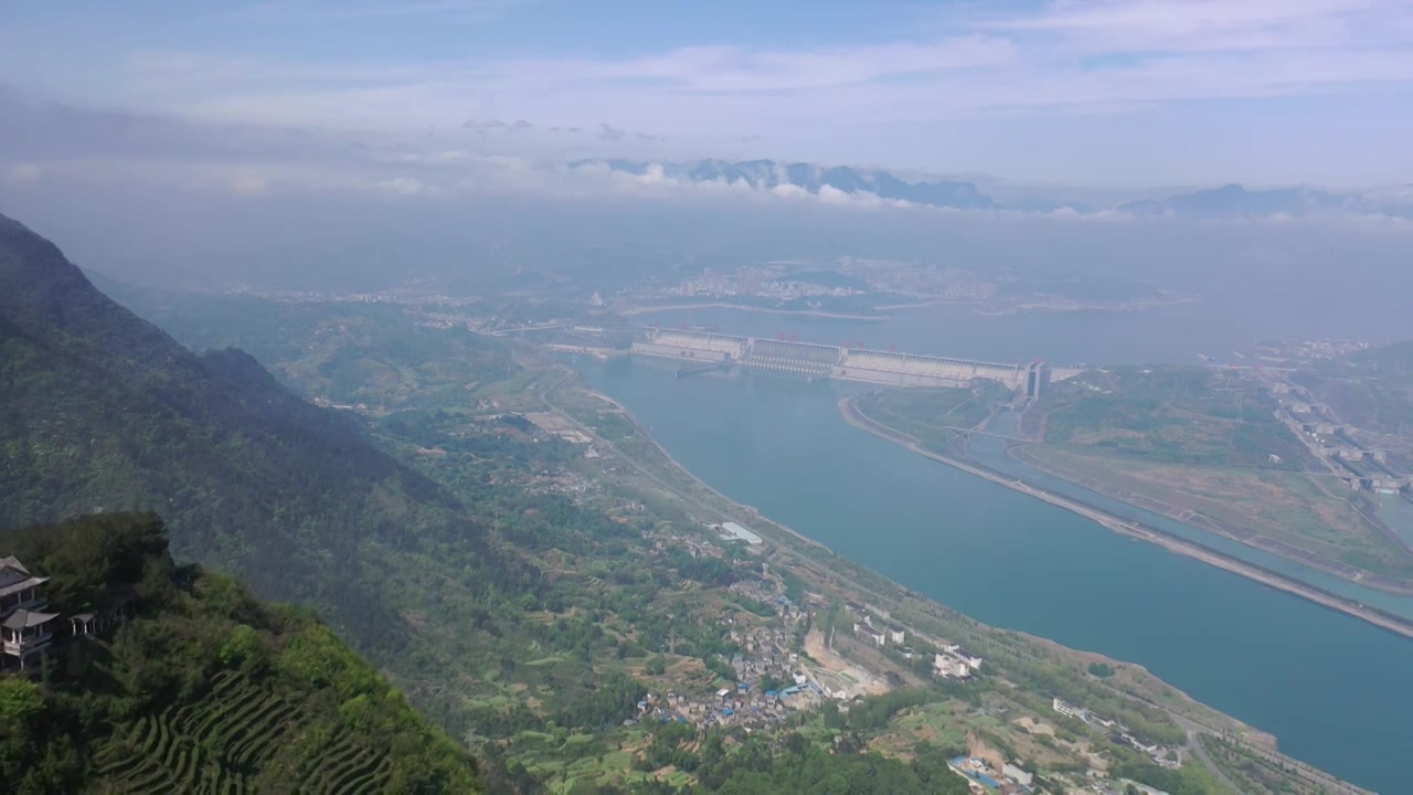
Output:
M61 617L136 603L0 678L6 792L473 792L472 760L308 613L174 566L154 515L0 535ZM66 621L61 618L61 622Z

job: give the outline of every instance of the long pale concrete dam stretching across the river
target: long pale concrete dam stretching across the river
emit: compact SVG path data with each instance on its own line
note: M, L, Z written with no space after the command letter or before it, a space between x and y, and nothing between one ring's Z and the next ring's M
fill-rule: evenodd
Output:
M740 365L808 379L832 378L886 386L969 388L974 381L995 381L1027 398L1037 398L1046 383L1082 372L1075 368L1053 368L1040 361L982 362L657 327L634 330L632 351L646 356Z

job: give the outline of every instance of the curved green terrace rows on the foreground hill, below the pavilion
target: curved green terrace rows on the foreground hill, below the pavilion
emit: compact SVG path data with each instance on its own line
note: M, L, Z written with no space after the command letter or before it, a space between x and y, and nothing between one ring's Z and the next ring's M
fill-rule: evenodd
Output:
M326 737L311 743L314 733ZM292 757L295 747L322 753ZM387 754L342 727L315 724L298 704L229 672L205 700L116 730L95 762L100 792L194 795L380 792L390 767Z

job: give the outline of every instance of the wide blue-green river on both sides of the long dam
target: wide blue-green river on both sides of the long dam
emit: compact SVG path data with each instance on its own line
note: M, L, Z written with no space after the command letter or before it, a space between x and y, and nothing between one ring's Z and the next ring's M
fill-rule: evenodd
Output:
M1164 334L1191 328L1204 311L1197 307L986 318L989 338L964 334L952 311L869 324L739 311L661 320L821 342L882 334L900 349L1002 361L1195 362L1194 345L1217 355L1255 341L1242 330L1205 328L1201 340ZM1101 331L1109 335L1102 359L1082 354L1084 338ZM1023 340L1044 349L1020 351ZM675 379L670 364L644 359L579 368L682 465L738 502L974 618L1140 663L1355 784L1409 791L1413 642L858 430L835 405L848 385Z

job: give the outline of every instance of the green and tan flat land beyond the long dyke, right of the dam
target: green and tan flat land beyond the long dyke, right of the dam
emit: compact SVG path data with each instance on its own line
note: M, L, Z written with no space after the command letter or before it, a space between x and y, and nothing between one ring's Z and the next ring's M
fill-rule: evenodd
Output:
M1193 511L1366 571L1413 576L1413 556L1323 475L1255 378L1200 366L1088 371L1044 393L1023 429L1044 441L1024 454L1061 477L1092 478L1102 491L1166 504L1171 515Z

